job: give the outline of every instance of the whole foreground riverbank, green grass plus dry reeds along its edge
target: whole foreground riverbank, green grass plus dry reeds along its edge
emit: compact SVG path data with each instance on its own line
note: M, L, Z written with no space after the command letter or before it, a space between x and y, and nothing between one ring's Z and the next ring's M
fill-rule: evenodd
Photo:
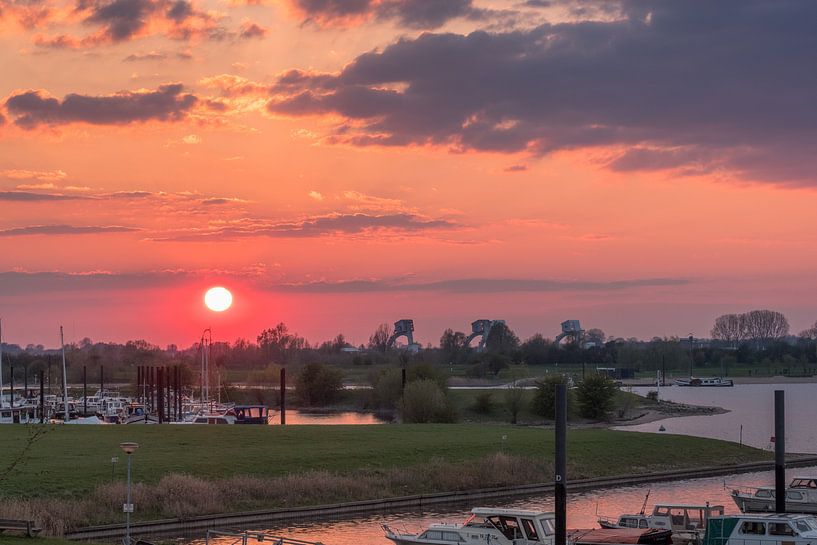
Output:
M553 472L553 431L540 427L54 426L25 450L29 434L0 435L0 518L34 519L50 535L121 520L122 441L140 444L136 520L547 482ZM571 429L568 441L570 479L771 459L724 441L607 429Z

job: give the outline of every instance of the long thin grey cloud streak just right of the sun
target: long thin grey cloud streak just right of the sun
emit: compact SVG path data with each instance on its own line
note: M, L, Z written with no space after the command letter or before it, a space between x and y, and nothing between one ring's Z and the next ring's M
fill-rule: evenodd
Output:
M442 291L449 293L508 293L561 291L615 291L640 287L683 286L683 278L641 278L613 281L560 281L520 278L461 278L437 282L408 283L394 280L350 280L341 282L310 282L270 286L281 291L311 293L365 293Z

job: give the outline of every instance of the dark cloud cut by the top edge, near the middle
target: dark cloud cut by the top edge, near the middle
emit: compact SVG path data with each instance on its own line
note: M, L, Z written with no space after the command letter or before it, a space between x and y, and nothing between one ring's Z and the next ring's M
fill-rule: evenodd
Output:
M451 19L481 18L487 12L472 0L291 0L308 19L332 24L373 17L410 28L438 28Z

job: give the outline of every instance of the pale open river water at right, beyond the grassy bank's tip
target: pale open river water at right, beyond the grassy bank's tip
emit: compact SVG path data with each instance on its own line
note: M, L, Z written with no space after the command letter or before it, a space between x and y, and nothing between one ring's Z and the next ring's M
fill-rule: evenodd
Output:
M655 388L633 388L645 395ZM660 399L723 407L730 412L718 415L686 416L660 422L626 426L619 429L641 432L695 435L739 442L743 426L743 444L773 449L774 391L786 392L786 450L817 453L817 384L738 384L732 388L661 388Z

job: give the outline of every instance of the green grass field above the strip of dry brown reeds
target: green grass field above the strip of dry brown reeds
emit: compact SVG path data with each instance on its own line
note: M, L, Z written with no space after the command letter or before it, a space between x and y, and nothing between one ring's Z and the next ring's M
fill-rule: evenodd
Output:
M122 441L136 441L136 482L170 473L205 479L234 475L274 478L314 470L354 473L417 467L432 458L461 463L498 451L547 462L553 430L440 424L383 426L55 426L12 470L30 430L4 426L0 434L0 496L72 497L112 479L122 480ZM503 440L503 436L505 439ZM111 457L118 457L114 474ZM569 432L574 476L728 465L768 460L771 454L734 443L606 429Z

